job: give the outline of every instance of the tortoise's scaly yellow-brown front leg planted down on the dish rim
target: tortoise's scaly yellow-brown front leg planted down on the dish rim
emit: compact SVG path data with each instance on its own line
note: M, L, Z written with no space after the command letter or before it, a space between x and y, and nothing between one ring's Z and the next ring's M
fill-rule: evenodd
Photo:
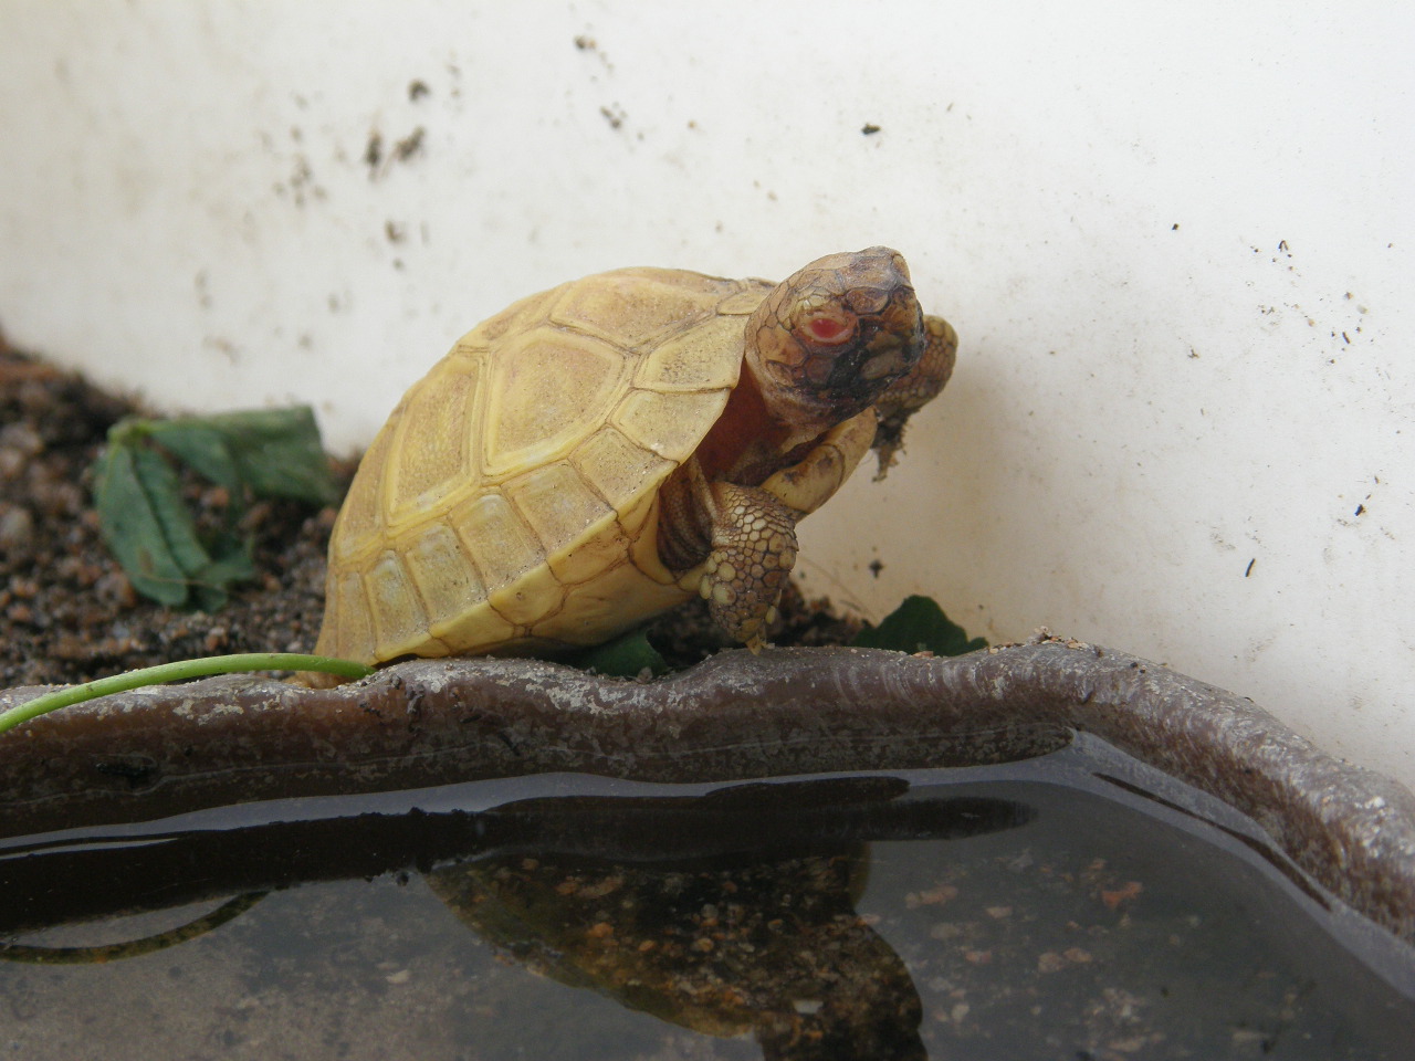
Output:
M757 652L795 564L801 514L757 487L713 482L709 494L712 552L698 591L713 621Z

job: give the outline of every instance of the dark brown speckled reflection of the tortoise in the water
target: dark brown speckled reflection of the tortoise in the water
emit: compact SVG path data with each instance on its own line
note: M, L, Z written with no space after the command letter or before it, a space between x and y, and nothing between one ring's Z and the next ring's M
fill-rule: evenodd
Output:
M934 836L1030 818L993 799L928 812ZM427 880L528 968L695 1031L750 1031L767 1058L924 1058L908 969L855 910L867 864L862 843L668 864L514 853Z

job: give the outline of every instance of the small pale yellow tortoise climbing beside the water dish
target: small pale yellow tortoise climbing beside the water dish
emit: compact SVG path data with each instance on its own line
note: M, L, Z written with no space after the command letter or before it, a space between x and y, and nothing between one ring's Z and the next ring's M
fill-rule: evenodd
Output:
M781 284L617 269L514 303L364 456L316 651L553 654L693 594L756 651L797 521L872 446L889 468L955 349L889 248Z

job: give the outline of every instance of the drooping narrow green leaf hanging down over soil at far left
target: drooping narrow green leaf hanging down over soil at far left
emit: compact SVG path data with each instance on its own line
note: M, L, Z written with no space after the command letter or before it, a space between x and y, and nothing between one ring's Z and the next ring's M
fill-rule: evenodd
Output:
M185 603L185 572L167 545L161 521L137 477L130 447L110 444L99 456L93 506L103 540L127 572L133 589L160 604Z

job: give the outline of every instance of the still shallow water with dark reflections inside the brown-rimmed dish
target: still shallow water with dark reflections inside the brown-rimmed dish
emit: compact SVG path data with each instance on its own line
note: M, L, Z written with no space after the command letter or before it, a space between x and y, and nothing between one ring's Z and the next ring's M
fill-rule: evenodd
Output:
M1415 953L1245 819L1088 737L948 771L222 808L4 842L0 897L23 959L0 962L0 1058L1397 1061L1415 1043Z

